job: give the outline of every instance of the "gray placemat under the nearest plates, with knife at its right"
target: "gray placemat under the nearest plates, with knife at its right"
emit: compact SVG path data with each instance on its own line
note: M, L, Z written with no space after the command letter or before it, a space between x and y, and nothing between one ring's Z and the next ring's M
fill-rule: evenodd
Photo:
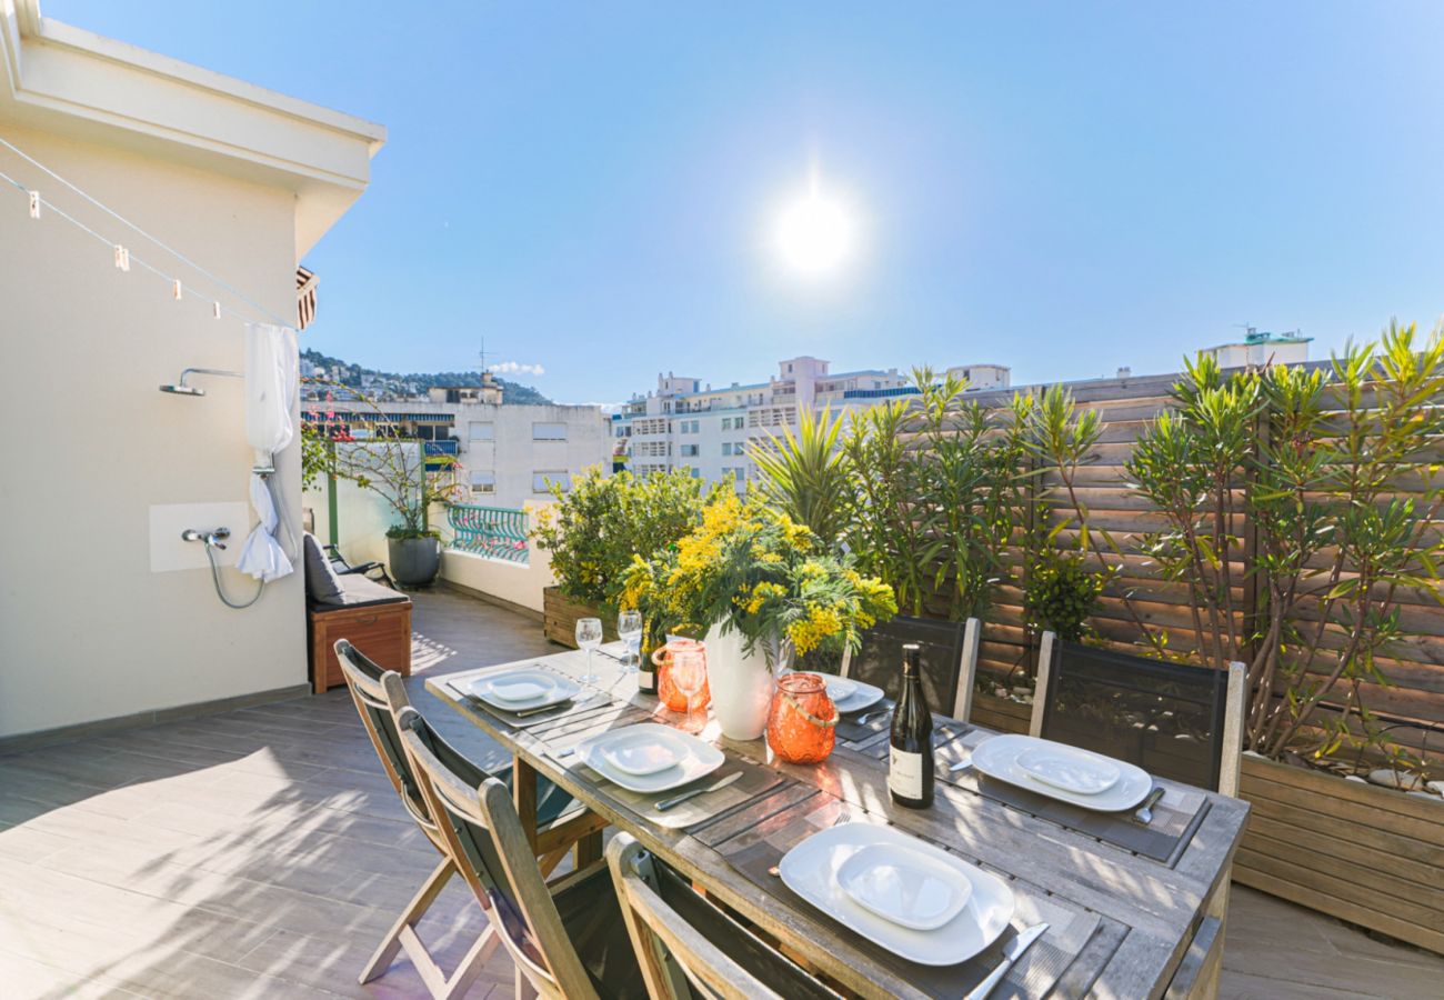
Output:
M783 858L783 848L770 841L760 841L728 857L728 863L748 882L780 903L820 919L833 938L849 948L866 954L872 961L892 970L923 993L933 997L962 997L988 978L988 974L1002 962L1002 949L1019 932L1038 921L1048 922L1048 931L1032 944L995 993L1006 993L1005 984L1018 987L1022 996L1047 996L1063 973L1083 949L1099 918L1083 910L1074 910L1041 893L1018 896L1018 908L1012 922L1002 935L965 962L957 965L920 965L897 955L856 931L835 921L806 899L788 889L780 876L773 874Z

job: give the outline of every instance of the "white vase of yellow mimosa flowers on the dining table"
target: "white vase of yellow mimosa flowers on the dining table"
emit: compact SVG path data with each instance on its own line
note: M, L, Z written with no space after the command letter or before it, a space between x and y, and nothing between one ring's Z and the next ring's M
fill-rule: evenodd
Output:
M859 574L851 556L760 497L732 491L676 546L635 556L622 601L653 629L706 636L712 705L735 740L762 734L773 672L794 653L856 647L865 629L897 614L892 588Z

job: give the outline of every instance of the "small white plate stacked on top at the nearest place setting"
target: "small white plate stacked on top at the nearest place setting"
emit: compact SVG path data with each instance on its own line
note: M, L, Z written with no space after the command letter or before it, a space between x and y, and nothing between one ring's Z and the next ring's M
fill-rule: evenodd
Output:
M963 909L973 883L946 860L914 847L874 844L838 868L838 883L881 918L934 931Z

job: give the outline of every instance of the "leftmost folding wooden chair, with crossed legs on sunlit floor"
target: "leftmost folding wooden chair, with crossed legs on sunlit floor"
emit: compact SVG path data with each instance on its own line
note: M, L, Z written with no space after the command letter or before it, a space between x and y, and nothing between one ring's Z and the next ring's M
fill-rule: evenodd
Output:
M426 910L430 909L442 889L451 882L451 877L456 874L456 866L446 850L442 829L432 818L430 808L422 795L412 763L401 749L396 717L401 710L410 708L406 685L401 681L401 675L378 666L345 639L336 642L335 650L336 660L341 663L341 671L347 679L347 688L351 691L351 699L355 702L367 736L371 737L371 746L375 747L377 757L381 760L381 769L396 788L401 805L406 806L416 825L422 828L422 832L426 834L427 840L430 840L432 845L442 855L442 860L432 870L430 876L422 883L420 890L407 903L406 909L391 925L391 929L387 931L381 944L377 945L371 960L362 968L358 981L370 983L386 973L396 960L397 951L404 948L412 964L416 965L427 988L430 988L432 996L461 996L472 980L475 980L477 974L481 973L491 951L495 949L495 942L488 944L487 935L482 935L448 978L440 971L440 967L436 965L426 945L416 935L416 923L426 915ZM479 783L491 777L485 770L469 764L455 750L451 753L459 762L459 769L469 769L466 773L468 780ZM510 777L510 770L501 772L501 777L503 780ZM601 816L586 812L570 795L550 782L544 782L537 789L537 822L546 822L546 829L549 831L547 854L542 861L547 873L556 868L562 858L566 857L570 844L605 827L605 821Z

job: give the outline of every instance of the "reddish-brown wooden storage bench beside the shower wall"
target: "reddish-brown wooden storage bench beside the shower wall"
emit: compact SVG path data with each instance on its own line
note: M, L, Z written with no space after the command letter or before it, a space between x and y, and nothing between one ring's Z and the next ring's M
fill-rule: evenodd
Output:
M335 643L345 639L373 660L412 675L412 598L365 577L341 577L342 604L309 601L310 689L345 684Z

